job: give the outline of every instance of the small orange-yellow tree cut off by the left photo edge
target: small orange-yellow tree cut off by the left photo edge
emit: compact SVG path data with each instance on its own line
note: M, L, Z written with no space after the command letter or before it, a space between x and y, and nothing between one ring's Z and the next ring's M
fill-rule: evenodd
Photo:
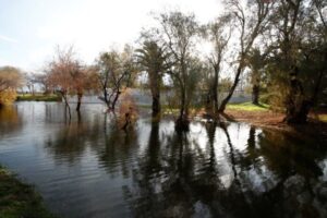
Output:
M16 98L16 88L23 85L23 76L13 66L0 68L0 105L11 104Z

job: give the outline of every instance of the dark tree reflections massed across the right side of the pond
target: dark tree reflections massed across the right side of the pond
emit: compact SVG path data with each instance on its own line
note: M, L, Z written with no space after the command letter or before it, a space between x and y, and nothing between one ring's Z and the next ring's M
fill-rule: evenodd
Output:
M173 132L165 135L169 141L162 143L159 124L152 123L147 150L133 171L133 185L123 187L132 214L135 217L324 217L327 205L315 190L326 185L317 182L322 170L316 165L326 150L312 149L305 143L299 147L296 143L290 144L293 141L289 136L274 131L257 133L253 126L238 125L239 131L249 131L244 149L240 149L230 135L235 125L204 124L207 144L203 147L191 140L192 132ZM225 148L217 147L216 137L226 137ZM228 152L222 153L223 149ZM217 152L218 156L227 156L225 160L231 168L229 185L222 180L221 165L226 162L220 162Z

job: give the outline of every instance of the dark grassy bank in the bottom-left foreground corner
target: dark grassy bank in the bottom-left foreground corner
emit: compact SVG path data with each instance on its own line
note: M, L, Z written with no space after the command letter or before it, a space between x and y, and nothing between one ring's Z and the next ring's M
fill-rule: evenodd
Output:
M24 184L0 166L0 217L48 218L55 217L44 206L33 186Z

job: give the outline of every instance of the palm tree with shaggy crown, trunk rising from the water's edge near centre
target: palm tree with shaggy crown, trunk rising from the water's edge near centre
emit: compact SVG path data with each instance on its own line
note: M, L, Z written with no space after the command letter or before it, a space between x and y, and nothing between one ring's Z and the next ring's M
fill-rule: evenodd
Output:
M160 86L164 73L170 68L169 53L155 40L146 40L143 47L136 50L137 62L141 69L148 74L149 87L153 96L153 117L160 114Z

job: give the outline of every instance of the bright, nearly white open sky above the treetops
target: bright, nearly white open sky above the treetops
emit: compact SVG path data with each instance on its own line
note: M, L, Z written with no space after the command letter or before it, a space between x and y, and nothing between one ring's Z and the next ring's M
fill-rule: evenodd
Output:
M93 63L101 51L134 44L153 13L179 9L201 23L219 14L220 0L0 0L0 66L38 72L56 46L74 46Z

